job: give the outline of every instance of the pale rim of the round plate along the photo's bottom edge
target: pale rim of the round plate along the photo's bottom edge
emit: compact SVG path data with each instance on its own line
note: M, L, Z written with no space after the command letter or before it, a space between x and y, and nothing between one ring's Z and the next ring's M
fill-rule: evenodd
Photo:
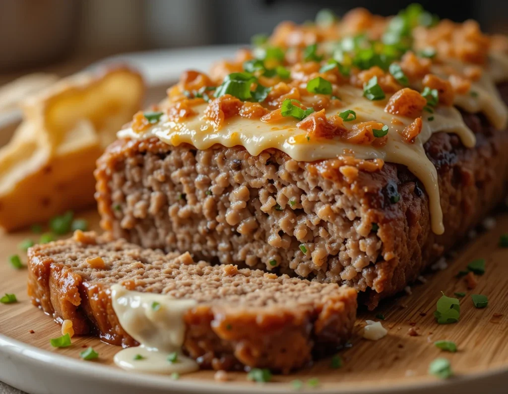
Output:
M0 380L29 394L269 394L294 392L288 384L216 383L172 380L167 376L128 373L114 367L83 363L0 335ZM508 370L426 380L396 387L305 389L306 393L334 394L501 394L506 392Z

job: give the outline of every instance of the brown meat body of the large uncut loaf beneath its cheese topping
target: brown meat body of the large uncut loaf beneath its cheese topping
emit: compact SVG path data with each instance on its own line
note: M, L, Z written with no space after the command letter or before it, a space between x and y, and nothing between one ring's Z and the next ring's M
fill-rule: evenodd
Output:
M500 88L508 93L508 85ZM477 135L474 149L447 133L425 144L438 173L440 236L431 230L423 185L404 166L350 176L341 159L297 162L276 150L253 157L241 147L199 151L156 138L118 140L98 161L102 227L213 264L347 284L373 308L416 280L504 194L506 131L482 115L463 117Z

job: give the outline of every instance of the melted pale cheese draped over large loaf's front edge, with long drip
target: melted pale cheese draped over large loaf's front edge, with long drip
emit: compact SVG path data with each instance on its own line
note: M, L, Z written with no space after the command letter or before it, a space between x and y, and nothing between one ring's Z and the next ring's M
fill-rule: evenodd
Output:
M433 114L423 116L422 132L414 144L407 144L402 140L400 132L414 119L394 116L384 111L384 103L369 101L363 97L363 91L353 86L341 86L340 109L328 109L327 116L341 111L356 112L355 122L344 122L345 127L352 128L357 122L375 120L389 126L388 142L384 147L376 148L370 145L351 144L338 138L310 138L307 140L305 130L296 127L297 120L292 117L284 118L276 123L263 123L260 120L245 119L240 116L227 119L223 127L215 130L203 116L206 104L193 107L196 116L185 122L168 121L163 115L160 122L151 126L144 133L139 134L132 128L125 128L118 133L118 137L145 138L156 136L161 141L172 146L182 143L191 144L199 150L205 150L214 144L225 147L243 146L249 154L257 156L269 148L275 148L287 153L297 161L314 161L332 159L352 152L360 159L380 158L390 163L405 165L419 178L429 195L432 230L441 234L444 231L442 211L437 185L437 171L425 154L423 144L432 133L443 131L456 133L462 143L472 148L475 137L464 124L462 116L455 108L440 106ZM433 120L428 120L432 115Z

